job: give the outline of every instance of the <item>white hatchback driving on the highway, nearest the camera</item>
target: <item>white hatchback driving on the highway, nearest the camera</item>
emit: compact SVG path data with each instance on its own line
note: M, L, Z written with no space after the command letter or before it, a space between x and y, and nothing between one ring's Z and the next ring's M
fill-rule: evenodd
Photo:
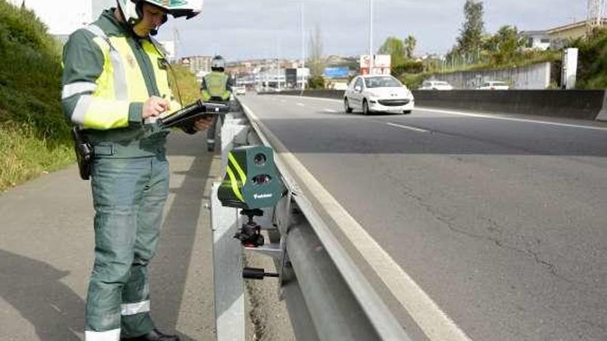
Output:
M398 79L388 75L356 76L344 94L344 110L402 112L410 114L415 107L413 94Z

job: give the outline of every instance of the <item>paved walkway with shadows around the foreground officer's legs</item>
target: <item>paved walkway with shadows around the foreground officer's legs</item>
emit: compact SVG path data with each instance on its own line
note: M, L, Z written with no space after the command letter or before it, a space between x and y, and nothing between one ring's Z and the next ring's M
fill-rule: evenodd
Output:
M152 314L181 340L211 340L212 260L208 202L220 156L204 136L171 134L170 195L150 267ZM0 195L0 340L83 338L93 260L88 181L69 167Z

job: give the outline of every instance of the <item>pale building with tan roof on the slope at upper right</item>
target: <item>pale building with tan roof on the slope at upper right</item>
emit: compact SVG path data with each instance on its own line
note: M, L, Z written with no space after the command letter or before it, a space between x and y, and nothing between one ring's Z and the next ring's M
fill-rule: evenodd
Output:
M607 19L602 19L602 23L607 25ZM539 50L562 48L565 41L586 37L586 34L588 34L586 21L570 23L544 31L521 32L521 36L527 40L526 48L537 48Z

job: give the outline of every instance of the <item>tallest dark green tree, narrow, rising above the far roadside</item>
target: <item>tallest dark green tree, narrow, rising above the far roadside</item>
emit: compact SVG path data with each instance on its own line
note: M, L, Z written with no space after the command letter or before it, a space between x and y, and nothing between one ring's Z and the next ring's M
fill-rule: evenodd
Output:
M459 30L456 52L464 54L468 60L477 60L481 52L485 23L483 21L484 8L482 1L466 0L464 4L464 24Z

